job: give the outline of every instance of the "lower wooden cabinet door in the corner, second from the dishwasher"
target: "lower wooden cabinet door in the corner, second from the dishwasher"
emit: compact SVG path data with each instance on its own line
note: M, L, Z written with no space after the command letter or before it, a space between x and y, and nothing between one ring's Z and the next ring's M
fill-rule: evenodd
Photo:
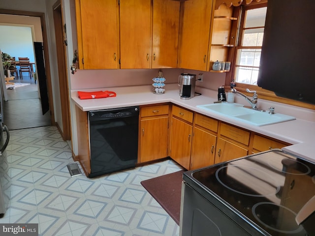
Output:
M189 170L192 125L172 118L170 156L178 164Z

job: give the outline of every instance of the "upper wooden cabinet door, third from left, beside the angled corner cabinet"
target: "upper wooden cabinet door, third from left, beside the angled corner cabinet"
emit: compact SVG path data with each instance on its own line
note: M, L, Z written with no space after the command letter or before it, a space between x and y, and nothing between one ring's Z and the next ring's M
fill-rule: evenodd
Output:
M179 1L153 1L152 68L177 67L179 12Z

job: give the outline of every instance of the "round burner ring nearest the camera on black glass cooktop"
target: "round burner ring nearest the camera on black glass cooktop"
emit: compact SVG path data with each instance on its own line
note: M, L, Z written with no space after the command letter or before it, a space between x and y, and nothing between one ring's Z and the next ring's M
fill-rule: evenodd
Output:
M257 203L252 207L252 214L263 226L279 233L296 234L303 230L303 226L295 222L296 213L282 205Z

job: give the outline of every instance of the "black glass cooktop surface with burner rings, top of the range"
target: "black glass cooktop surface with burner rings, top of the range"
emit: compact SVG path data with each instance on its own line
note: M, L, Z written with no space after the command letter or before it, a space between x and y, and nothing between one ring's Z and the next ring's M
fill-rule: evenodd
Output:
M314 163L273 150L201 169L192 177L272 236L312 235L295 217L315 196Z

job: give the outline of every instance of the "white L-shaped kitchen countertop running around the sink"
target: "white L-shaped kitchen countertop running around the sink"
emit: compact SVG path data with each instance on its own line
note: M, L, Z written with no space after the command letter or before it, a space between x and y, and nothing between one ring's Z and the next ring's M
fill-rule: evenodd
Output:
M189 110L197 113L219 119L221 121L239 126L244 129L254 131L256 133L266 135L290 144L302 144L304 146L297 146L294 148L290 146L286 151L293 151L293 154L300 153L302 156L307 156L315 161L315 147L310 144L315 142L315 122L296 118L295 120L286 121L277 124L255 126L245 122L237 121L231 118L226 118L206 110L197 108L197 105L210 104L217 100L218 91L197 88L197 92L201 92L202 95L195 96L189 100L180 99L179 87L177 84L168 84L164 87L164 94L154 94L153 87L149 85L145 86L128 86L128 87L115 87L115 88L103 88L103 89L84 89L80 91L114 91L117 93L116 97L107 97L99 99L84 99L81 100L78 97L77 91L71 91L71 99L82 111L103 110L110 108L120 108L137 105L157 104L163 102L172 102L173 104L183 106ZM259 98L258 98L259 103ZM247 104L248 105L248 104ZM258 105L259 106L259 105ZM282 112L283 113L283 112ZM289 114L285 114L289 115ZM297 117L297 116L295 116ZM305 146L309 148L305 148ZM301 147L301 148L299 148Z

